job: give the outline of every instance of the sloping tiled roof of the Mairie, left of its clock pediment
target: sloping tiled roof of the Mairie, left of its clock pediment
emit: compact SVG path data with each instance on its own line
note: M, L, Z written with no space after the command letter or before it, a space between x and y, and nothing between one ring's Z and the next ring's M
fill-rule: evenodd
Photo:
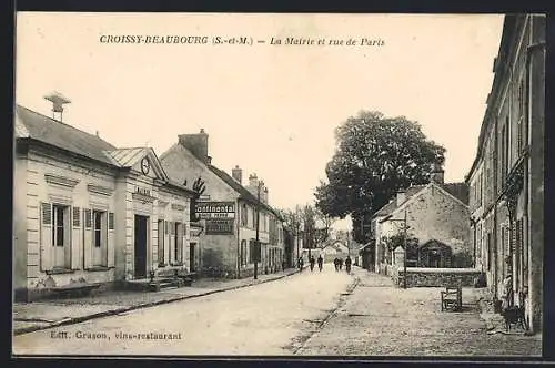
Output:
M113 165L104 154L104 151L115 150L112 144L98 135L89 134L21 105L16 105L14 133L17 139L36 140Z

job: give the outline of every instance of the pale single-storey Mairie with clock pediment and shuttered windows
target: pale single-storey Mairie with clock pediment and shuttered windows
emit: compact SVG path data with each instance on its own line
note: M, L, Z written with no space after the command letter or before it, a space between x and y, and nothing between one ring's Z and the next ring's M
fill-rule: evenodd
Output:
M182 264L194 193L168 177L152 149L117 149L20 105L14 116L18 300L74 282L145 278L160 259Z

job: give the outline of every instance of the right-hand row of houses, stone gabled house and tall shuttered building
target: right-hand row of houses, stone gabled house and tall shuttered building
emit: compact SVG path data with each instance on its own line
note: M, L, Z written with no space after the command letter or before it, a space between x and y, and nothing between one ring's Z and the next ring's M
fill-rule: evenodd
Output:
M543 318L545 44L544 14L505 17L465 182L444 183L435 167L428 184L400 191L373 215L374 242L361 251L370 270L391 275L398 265L387 238L406 226L417 239L410 266L453 267L466 255L458 260L485 275L493 301L511 276L512 303L533 333Z

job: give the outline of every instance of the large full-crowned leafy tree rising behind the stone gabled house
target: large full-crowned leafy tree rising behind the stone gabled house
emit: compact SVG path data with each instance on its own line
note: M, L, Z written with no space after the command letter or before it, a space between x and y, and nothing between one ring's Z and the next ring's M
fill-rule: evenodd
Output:
M428 182L442 166L445 149L428 141L417 122L361 111L335 130L336 151L326 182L314 193L316 207L331 217L351 215L355 241L371 238L370 219L401 188Z

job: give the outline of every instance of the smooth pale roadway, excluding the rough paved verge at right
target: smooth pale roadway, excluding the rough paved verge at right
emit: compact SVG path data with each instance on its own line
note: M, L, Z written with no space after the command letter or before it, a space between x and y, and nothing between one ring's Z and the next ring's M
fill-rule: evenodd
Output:
M322 274L305 269L279 282L16 336L13 352L290 355L335 308L353 279L335 273L332 265ZM181 336L131 340L118 338L119 333ZM87 338L94 334L101 338Z

